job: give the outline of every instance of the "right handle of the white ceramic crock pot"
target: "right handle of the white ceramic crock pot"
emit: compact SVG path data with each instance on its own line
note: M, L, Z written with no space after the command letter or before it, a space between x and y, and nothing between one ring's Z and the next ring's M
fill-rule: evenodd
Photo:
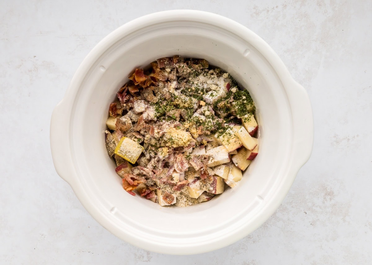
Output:
M310 98L303 86L294 81L288 93L294 124L294 152L292 162L301 168L310 158L314 143L314 118Z

